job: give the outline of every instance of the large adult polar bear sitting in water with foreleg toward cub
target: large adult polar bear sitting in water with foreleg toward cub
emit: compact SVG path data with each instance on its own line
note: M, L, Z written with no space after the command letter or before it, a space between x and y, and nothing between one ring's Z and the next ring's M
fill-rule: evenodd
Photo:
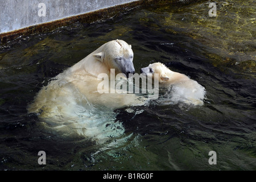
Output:
M113 109L142 104L135 94L98 93L98 75L111 77L113 69L126 77L135 72L133 50L123 40L105 43L53 78L28 105L28 113L38 113L52 133L95 137L106 130L106 121L114 125Z

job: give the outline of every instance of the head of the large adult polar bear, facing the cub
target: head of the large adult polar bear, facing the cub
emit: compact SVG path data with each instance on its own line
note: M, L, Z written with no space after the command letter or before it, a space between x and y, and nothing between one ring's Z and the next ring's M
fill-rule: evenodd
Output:
M123 40L112 40L104 45L102 52L93 55L109 69L115 69L115 74L135 73L133 65L133 50L131 45Z

